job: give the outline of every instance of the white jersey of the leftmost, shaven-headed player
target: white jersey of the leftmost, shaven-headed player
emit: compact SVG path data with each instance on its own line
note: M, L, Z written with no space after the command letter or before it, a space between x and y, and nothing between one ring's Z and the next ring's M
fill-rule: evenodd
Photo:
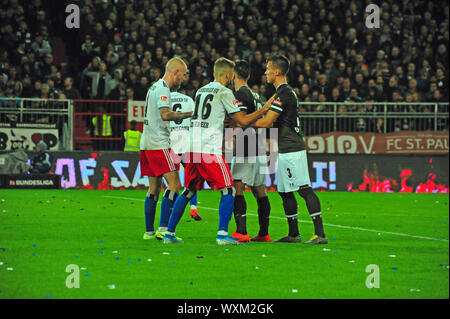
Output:
M162 150L170 147L169 121L163 121L159 109L168 107L172 111L170 88L159 79L148 90L145 98L144 129L141 150Z

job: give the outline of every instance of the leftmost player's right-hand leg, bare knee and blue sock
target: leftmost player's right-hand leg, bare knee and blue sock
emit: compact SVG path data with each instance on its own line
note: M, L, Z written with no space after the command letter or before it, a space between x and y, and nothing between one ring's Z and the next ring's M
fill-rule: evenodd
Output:
M181 182L178 171L165 173L163 177L165 178L168 186L161 201L161 218L159 220L158 229L160 237L159 239L162 239L162 237L164 236L164 232L167 231L170 213L172 211L173 204L178 197L178 192L181 189Z

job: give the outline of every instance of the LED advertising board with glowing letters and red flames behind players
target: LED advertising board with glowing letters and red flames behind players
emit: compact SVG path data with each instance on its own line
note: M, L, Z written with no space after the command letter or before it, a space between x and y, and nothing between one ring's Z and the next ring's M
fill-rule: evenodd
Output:
M63 189L147 189L134 152L54 152ZM30 157L32 154L30 153ZM448 193L447 154L309 154L311 185L320 191ZM184 182L183 168L180 170ZM277 175L266 175L268 189ZM209 189L205 183L204 189Z

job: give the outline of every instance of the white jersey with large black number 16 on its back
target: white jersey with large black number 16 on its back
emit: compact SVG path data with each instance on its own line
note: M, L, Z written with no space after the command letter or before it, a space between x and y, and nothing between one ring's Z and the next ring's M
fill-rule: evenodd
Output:
M233 91L219 82L211 82L197 91L189 130L191 152L222 154L225 114L239 112L238 103Z

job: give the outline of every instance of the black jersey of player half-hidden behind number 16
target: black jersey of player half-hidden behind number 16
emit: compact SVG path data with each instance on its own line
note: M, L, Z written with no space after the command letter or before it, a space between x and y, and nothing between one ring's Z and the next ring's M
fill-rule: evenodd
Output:
M242 85L237 91L234 92L236 100L238 100L238 107L240 111L245 111L247 114L253 113L263 107L263 103L259 94L253 92L247 85ZM265 140L259 140L258 134L255 129L242 128L244 136L241 134L236 135L236 142L242 140L243 143L243 156L255 156L264 155L266 153ZM255 144L249 141L255 141ZM256 145L258 147L256 148ZM242 153L239 149L239 144L236 145L236 155L240 156Z

